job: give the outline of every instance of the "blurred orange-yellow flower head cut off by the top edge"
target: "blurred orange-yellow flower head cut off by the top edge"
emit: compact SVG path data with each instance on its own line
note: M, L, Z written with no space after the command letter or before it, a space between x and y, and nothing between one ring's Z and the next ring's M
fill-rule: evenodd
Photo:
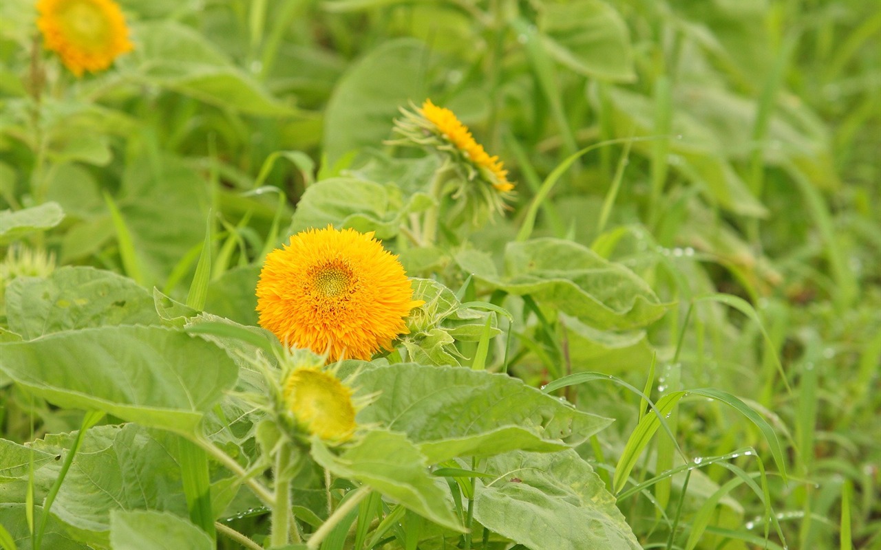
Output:
M133 48L122 11L112 0L40 0L37 11L46 48L78 77L84 70L107 69Z

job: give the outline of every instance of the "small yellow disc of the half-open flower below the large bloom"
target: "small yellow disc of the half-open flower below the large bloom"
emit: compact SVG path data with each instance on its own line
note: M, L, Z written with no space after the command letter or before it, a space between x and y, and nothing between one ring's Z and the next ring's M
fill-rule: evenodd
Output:
M326 370L292 370L285 380L285 404L310 434L329 441L345 441L355 432L352 388Z

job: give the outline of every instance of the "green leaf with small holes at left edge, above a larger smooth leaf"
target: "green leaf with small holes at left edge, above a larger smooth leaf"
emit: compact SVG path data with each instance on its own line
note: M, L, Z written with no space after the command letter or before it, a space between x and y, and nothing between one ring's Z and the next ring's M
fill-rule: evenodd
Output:
M64 330L154 325L150 293L111 271L66 266L45 279L22 277L6 290L9 327L25 340Z

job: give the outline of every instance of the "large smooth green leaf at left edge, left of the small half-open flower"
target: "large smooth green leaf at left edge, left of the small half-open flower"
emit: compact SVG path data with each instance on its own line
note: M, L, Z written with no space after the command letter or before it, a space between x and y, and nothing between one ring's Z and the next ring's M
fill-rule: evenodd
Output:
M104 326L0 344L0 370L59 407L98 409L184 434L238 376L222 349L159 326Z

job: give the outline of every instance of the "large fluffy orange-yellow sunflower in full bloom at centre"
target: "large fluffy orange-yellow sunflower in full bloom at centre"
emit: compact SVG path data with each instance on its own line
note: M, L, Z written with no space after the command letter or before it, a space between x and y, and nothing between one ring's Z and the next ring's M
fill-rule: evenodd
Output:
M332 226L303 231L272 251L257 282L260 326L289 346L370 360L407 333L410 279L374 233Z

